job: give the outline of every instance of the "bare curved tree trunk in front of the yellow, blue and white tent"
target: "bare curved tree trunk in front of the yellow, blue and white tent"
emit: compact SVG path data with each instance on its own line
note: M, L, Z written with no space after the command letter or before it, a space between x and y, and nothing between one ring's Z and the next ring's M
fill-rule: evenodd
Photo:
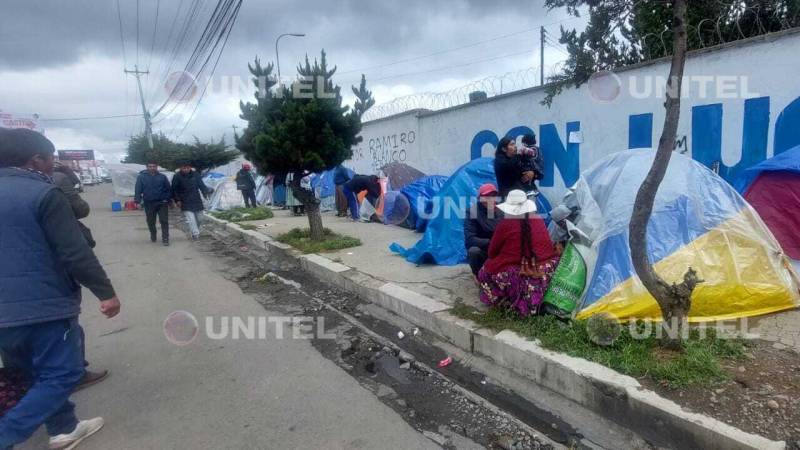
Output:
M682 283L670 285L653 270L653 266L647 257L647 223L653 212L658 186L667 172L667 166L672 156L675 137L678 132L678 119L681 112L681 85L683 69L686 63L686 0L674 1L672 34L672 65L670 66L669 80L667 81L667 99L664 104L666 108L664 129L658 142L658 150L656 151L653 166L636 194L628 243L636 275L639 276L642 284L658 302L664 325L677 327L677 336L667 333L663 343L667 347L679 349L681 348L679 338L684 332L683 324L691 308L692 291L702 280L699 280L697 272L689 267L683 276Z

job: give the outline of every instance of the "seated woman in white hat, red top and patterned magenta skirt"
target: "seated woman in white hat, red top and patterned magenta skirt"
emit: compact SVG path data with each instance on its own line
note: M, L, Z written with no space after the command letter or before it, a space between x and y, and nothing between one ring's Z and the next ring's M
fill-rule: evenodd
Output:
M489 243L489 259L478 273L480 299L507 306L526 316L537 314L550 278L558 266L544 220L524 191L513 190L497 207L505 217Z

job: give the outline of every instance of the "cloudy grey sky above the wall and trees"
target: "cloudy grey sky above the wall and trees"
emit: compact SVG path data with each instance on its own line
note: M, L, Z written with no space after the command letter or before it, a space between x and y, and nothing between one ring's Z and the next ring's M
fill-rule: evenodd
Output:
M547 11L542 3L244 0L202 102L196 106L198 95L169 105L156 117L154 128L181 141L223 134L230 140L232 126L243 125L239 100L252 98L252 89L238 88L236 80L248 80L247 64L256 56L274 61L275 38L286 32L306 36L281 40L284 77L295 73L305 54L313 58L324 48L329 62L338 67L334 81L343 92L364 73L378 104L532 69L539 65L539 26L546 27L553 41L559 26L581 26L580 19ZM136 80L123 73L126 64L132 69L137 61L140 70L150 71L142 82L147 107L156 110L166 98L167 74L186 64L216 4L120 0L121 38L116 0L3 0L0 111L39 114L58 148L93 148L109 160L124 156L129 136L143 129L141 117L58 119L141 113ZM196 14L183 35L181 27L193 8ZM181 36L183 45L178 45ZM550 72L565 55L548 46L545 58ZM517 76L517 83L535 79L534 73ZM345 101L352 102L352 95Z

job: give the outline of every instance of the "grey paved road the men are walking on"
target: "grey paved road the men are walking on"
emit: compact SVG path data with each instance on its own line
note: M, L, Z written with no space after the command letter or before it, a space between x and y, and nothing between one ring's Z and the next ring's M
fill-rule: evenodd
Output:
M201 321L269 312L180 231L164 248L149 242L142 213L110 212L110 185L89 187L85 198L123 312L106 320L85 293L88 359L111 377L73 396L79 416L106 419L81 449L436 448L309 341L201 333L188 346L168 342L162 323L175 310ZM45 442L40 430L21 448Z

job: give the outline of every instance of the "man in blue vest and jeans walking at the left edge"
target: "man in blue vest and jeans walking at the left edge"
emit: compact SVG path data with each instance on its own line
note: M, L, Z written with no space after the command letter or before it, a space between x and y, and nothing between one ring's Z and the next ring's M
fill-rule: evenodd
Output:
M107 317L120 303L64 194L52 184L53 144L24 129L0 129L0 352L3 364L33 377L0 418L0 449L42 424L51 449L74 447L103 426L78 421L69 396L84 375L80 285Z

